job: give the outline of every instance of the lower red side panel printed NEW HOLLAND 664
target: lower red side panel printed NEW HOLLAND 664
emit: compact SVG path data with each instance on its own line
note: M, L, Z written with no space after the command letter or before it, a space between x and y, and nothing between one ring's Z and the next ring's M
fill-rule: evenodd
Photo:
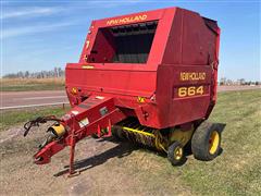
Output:
M174 66L173 72L172 115L170 117L170 123L176 125L204 119L210 105L210 88L212 79L210 65ZM181 76L182 73L199 73L203 74L203 76L196 76L195 78L197 79L194 81L183 81ZM187 89L187 95L184 97L178 95L178 90L182 88ZM192 95L189 95L189 88L195 89L196 93L192 91Z

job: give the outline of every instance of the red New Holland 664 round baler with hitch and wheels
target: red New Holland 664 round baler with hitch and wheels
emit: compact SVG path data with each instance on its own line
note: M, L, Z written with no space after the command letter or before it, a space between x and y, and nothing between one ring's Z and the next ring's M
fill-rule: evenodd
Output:
M117 138L165 151L173 166L184 148L212 160L222 124L208 123L217 85L220 28L196 12L167 8L92 21L77 63L67 63L65 90L72 109L54 121L35 162L44 164L87 136Z

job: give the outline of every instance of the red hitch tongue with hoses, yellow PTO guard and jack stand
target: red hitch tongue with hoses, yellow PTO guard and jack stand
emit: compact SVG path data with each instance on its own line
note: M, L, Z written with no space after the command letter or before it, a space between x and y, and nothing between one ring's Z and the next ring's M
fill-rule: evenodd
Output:
M124 113L114 106L113 98L90 97L79 106L72 108L61 119L49 115L28 121L24 125L24 136L28 134L33 126L39 126L49 121L54 122L48 127L48 136L39 146L38 152L34 155L34 162L37 164L49 163L53 155L69 146L69 173L72 175L75 174L73 164L76 143L94 134L98 137L111 136L112 124L125 118Z

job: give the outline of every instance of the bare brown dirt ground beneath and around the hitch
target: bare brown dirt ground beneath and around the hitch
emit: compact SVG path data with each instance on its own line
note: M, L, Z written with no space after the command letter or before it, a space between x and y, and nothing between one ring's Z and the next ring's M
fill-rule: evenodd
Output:
M44 131L44 130L42 130ZM67 177L69 148L52 157L46 166L33 163L33 154L42 137L40 131L23 137L14 127L0 132L1 188L0 195L189 195L179 186L178 177L170 186L153 183L153 172L160 170L151 156L130 143L114 138L86 138L77 144L75 167L80 174ZM151 180L147 177L152 176ZM151 181L149 186L144 182ZM171 187L171 188L170 188Z

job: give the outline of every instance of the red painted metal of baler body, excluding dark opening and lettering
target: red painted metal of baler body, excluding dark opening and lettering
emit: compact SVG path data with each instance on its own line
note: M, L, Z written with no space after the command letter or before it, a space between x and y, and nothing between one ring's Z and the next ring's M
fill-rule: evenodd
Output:
M85 62L84 57L91 56L96 39L100 39L98 29L108 27L107 21L145 14L146 21L158 21L147 63L94 63L89 58ZM220 29L214 21L196 12L170 8L92 21L90 30L86 38L88 49L84 46L79 62L66 66L66 89L73 106L80 95L114 97L116 107L134 110L142 125L158 128L206 119L210 114L216 99L216 69L211 64L219 62ZM102 52L104 46L100 48ZM109 56L111 53L110 50ZM86 64L94 69L82 69ZM181 72L204 72L207 76L203 81L181 81ZM175 96L178 87L189 85L203 85L204 95ZM73 96L72 87L82 91ZM150 101L153 95L156 102ZM138 103L138 96L146 97L146 103ZM141 108L148 112L147 119Z

